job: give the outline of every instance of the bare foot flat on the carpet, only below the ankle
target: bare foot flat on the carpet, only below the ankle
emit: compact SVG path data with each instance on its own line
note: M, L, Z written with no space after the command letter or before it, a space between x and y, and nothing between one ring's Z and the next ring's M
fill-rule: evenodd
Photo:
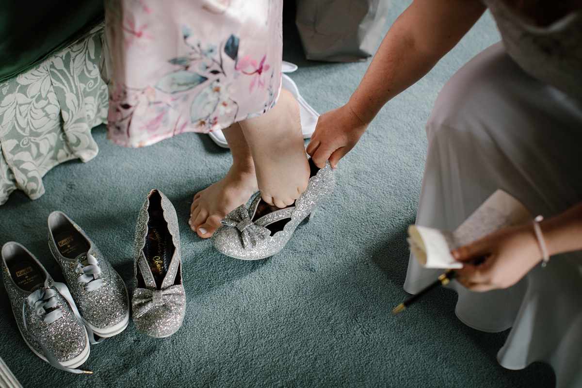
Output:
M198 236L207 239L221 226L221 219L256 193L254 170L240 171L233 165L225 177L194 195L189 224Z

